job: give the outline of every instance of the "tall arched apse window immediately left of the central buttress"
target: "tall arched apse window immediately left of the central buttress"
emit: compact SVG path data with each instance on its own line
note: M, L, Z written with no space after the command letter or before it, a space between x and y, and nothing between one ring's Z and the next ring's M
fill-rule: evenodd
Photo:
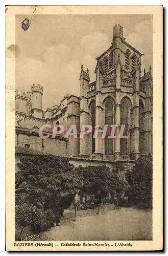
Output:
M113 139L108 139L111 134L110 125L113 124L113 100L108 97L105 99L105 124L108 124L108 130L105 138L105 155L113 154Z

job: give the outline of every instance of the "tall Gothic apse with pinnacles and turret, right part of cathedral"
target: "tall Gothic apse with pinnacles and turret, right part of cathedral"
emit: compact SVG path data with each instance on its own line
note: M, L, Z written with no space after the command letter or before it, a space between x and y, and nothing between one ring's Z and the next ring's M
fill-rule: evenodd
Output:
M126 42L123 27L115 25L112 45L97 57L94 82L89 83L82 66L80 124L117 127L115 139L103 139L101 133L81 139L80 156L121 161L152 153L152 69L141 76L142 55ZM126 139L118 136L122 124Z

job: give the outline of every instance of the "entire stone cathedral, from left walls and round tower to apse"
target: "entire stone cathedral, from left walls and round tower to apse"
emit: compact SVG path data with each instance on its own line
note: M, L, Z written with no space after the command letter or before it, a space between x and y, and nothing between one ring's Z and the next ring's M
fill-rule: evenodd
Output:
M67 156L75 165L118 163L127 168L140 155L152 153L152 68L142 74L142 55L126 42L123 27L115 25L111 46L97 57L95 81L90 83L89 70L81 66L80 96L66 95L59 105L44 111L42 86L33 84L31 92L16 90L16 156L42 151ZM66 139L62 134L41 139L38 130L46 123L91 124L100 129L115 124L116 138L94 139L88 134ZM122 124L126 139L117 136Z

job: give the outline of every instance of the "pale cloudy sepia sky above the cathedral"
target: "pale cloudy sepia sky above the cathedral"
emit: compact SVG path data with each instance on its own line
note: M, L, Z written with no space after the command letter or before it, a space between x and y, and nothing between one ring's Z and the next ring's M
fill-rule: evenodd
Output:
M31 20L22 30L21 22ZM59 104L66 94L80 95L80 70L89 69L95 80L97 56L112 42L113 26L120 24L126 42L143 53L141 70L152 65L152 15L16 15L16 89L43 86L43 110Z

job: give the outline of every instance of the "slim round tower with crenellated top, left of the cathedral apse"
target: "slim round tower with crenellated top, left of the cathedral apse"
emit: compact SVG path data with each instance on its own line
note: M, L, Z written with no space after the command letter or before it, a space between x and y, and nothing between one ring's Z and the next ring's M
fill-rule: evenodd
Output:
M40 84L32 84L32 112L33 116L42 118L43 87Z

